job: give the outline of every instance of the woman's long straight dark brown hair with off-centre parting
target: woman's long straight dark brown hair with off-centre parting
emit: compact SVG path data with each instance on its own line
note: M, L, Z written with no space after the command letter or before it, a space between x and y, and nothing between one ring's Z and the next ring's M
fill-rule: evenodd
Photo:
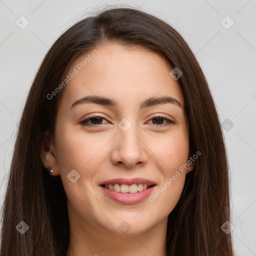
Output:
M60 176L40 159L43 133L54 136L58 103L65 88L47 95L75 59L100 45L140 45L160 53L183 75L191 153L201 152L186 175L181 197L167 222L166 255L232 256L232 240L220 226L229 220L228 163L216 107L204 74L181 35L153 15L110 8L66 30L45 55L29 90L19 123L2 208L1 256L63 256L69 242L66 195ZM24 221L24 234L16 226Z

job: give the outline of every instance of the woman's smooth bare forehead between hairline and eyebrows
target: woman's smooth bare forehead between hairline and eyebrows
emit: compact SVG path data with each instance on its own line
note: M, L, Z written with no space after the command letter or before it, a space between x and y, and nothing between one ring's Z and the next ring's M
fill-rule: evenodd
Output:
M86 95L115 98L120 103L136 103L143 98L169 95L183 105L183 95L169 72L170 64L154 51L140 46L108 44L93 49L70 66L76 74L64 89L63 102L71 104ZM69 104L69 105L70 105Z

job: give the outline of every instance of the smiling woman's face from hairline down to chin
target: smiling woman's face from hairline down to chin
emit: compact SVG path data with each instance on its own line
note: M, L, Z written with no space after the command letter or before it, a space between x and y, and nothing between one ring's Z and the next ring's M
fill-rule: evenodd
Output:
M169 75L172 68L159 54L113 44L97 50L76 60L68 72L75 74L62 88L54 141L42 161L61 176L70 223L113 233L120 233L124 225L135 234L167 222L185 174L194 166L180 171L189 160L184 100L178 82ZM88 96L95 102L82 100ZM157 101L160 97L174 100ZM124 184L120 189L130 189L128 194L100 185L119 178L144 178L155 185L134 192L141 185L110 181Z

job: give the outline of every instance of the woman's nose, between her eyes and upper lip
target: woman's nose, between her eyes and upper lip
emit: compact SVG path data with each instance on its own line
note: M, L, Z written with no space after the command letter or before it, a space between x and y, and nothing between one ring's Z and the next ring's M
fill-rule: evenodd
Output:
M115 165L135 167L144 165L147 161L145 141L141 139L140 132L132 125L128 130L117 129L114 136L111 162Z

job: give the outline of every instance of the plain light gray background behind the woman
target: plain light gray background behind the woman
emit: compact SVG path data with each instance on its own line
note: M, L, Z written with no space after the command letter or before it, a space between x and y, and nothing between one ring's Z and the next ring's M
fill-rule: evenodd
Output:
M236 255L256 255L256 0L0 0L0 206L16 123L43 56L67 27L112 4L139 7L167 21L193 50L225 120ZM21 15L29 21L24 29L15 23ZM228 29L223 25L232 21L226 15L234 21Z

